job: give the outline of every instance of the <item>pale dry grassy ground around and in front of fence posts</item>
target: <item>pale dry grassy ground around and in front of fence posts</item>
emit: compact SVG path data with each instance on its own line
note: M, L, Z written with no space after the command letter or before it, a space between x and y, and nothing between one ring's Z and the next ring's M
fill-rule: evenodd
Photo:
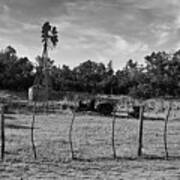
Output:
M6 157L0 162L0 180L126 180L180 179L180 121L168 125L170 158L164 159L163 121L145 121L144 157L137 158L138 124L117 118L115 128L118 158L113 160L111 117L79 114L73 142L77 160L71 160L68 130L72 115L37 115L34 160L30 141L32 115L6 117Z

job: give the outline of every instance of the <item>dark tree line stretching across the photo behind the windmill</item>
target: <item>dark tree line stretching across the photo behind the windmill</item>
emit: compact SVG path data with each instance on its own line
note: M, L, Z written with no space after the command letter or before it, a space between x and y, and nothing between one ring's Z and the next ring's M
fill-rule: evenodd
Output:
M180 95L180 51L173 54L153 52L143 65L129 60L122 69L87 60L74 68L57 66L48 59L48 83L55 91L91 94L123 94L151 98ZM44 84L43 58L36 63L18 57L8 46L0 52L0 88L25 91L34 83Z

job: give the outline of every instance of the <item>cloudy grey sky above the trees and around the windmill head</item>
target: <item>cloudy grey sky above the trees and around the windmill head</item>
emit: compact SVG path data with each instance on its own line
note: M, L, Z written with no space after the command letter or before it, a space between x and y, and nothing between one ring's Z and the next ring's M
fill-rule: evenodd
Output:
M35 61L42 54L41 27L49 21L59 42L49 50L57 65L86 60L120 69L153 51L180 49L179 0L0 0L0 49Z

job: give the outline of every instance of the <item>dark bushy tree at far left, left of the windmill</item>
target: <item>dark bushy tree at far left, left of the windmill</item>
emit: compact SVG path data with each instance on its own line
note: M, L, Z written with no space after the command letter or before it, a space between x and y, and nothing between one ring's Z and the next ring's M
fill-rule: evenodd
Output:
M1 88L27 90L33 83L33 69L34 67L27 57L17 57L16 50L8 46L0 52Z

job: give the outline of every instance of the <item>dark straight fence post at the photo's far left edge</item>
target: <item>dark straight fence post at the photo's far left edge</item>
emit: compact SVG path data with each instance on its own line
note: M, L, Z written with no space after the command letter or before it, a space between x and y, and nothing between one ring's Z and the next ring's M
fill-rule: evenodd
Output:
M1 106L1 160L5 156L5 128L4 128L4 106Z

